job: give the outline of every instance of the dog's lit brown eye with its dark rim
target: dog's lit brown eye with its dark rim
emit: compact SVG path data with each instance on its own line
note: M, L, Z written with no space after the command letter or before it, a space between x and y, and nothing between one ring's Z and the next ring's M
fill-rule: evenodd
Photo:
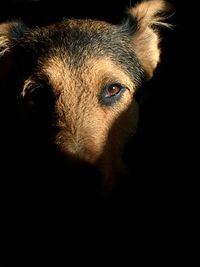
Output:
M120 83L108 84L104 87L100 94L100 102L105 105L112 105L119 100L122 93L125 91L126 86Z

